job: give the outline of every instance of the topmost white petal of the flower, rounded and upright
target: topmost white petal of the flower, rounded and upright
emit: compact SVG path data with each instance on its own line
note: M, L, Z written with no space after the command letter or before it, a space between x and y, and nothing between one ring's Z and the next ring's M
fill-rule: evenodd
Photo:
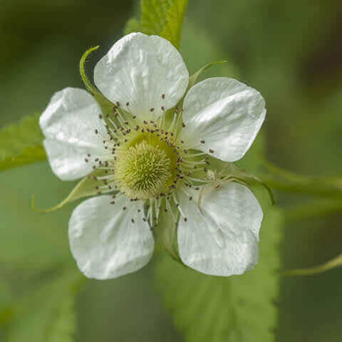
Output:
M167 110L182 98L189 83L189 73L170 41L159 36L130 33L116 42L98 62L94 81L113 103L119 102L138 118L155 119L162 113L162 106Z

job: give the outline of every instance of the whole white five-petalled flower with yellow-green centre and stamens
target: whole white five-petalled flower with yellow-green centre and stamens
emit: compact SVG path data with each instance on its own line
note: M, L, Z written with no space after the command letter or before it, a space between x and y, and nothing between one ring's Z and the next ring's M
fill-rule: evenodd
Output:
M219 276L251 269L261 207L244 185L216 189L208 175L213 157L234 162L252 145L266 114L260 93L232 78L209 78L185 95L189 73L180 53L142 33L115 43L94 81L113 113L101 113L85 90L65 88L40 118L53 172L61 180L92 177L99 194L110 194L86 200L71 216L71 252L81 271L110 279L140 269L160 225L177 226L180 258L193 269Z

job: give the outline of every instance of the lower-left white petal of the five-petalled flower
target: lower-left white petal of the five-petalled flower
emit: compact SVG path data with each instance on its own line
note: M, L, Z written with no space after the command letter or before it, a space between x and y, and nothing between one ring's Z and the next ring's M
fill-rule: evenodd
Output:
M69 221L71 253L88 278L112 279L138 271L153 254L154 239L142 220L143 203L130 202L123 195L115 204L110 204L112 200L110 196L88 199L76 207Z

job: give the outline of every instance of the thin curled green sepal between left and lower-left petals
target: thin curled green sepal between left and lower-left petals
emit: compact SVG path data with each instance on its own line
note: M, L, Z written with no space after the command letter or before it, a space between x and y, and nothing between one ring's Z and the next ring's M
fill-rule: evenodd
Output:
M54 212L57 209L61 209L61 207L63 207L64 205L76 201L76 199L95 195L102 195L107 192L113 192L113 190L109 189L96 189L96 186L99 187L103 185L103 182L101 180L98 180L96 177L101 177L103 175L105 175L105 172L103 170L95 170L90 175L84 177L83 180L78 182L76 187L74 187L73 190L71 190L71 193L65 199L63 199L62 202L48 209L38 209L36 207L36 197L32 195L32 208L34 210L37 210L38 212Z

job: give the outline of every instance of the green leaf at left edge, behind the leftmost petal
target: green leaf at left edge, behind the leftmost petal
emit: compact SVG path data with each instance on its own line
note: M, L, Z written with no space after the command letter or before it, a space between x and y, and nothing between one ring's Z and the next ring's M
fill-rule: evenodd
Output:
M46 159L38 118L26 116L0 130L0 171Z

